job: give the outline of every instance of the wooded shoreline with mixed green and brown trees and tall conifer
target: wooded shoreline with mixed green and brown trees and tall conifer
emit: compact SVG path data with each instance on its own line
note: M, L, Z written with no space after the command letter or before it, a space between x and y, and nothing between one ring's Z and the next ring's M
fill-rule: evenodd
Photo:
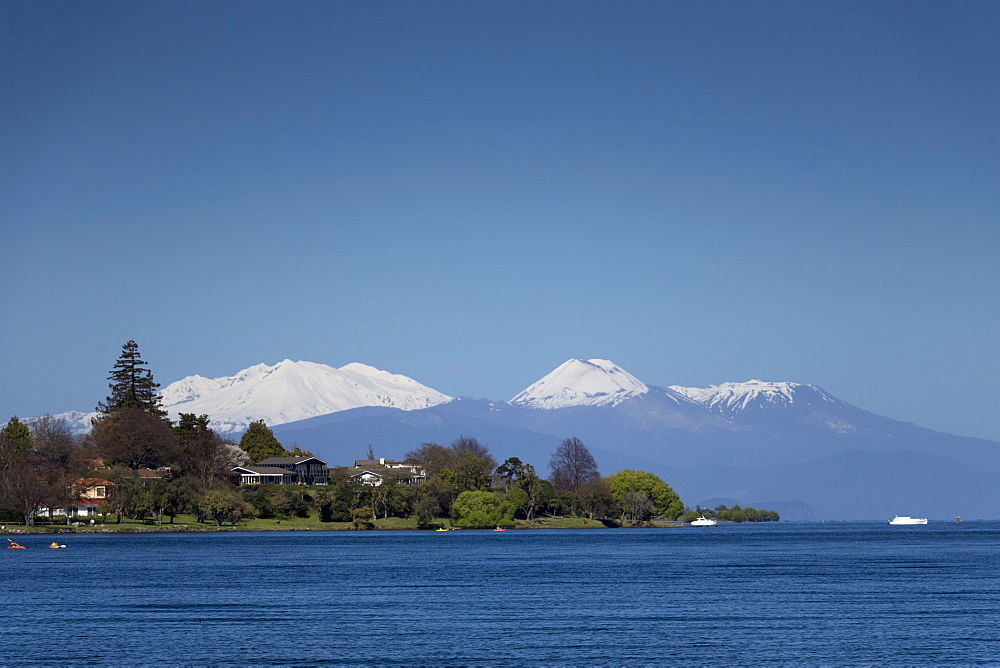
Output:
M590 528L662 526L700 515L779 519L774 511L739 506L686 508L666 482L645 471L602 476L576 437L556 448L548 475L516 457L498 464L487 445L460 435L448 445L420 444L406 455L410 471L380 470L378 484L359 483L352 469L334 467L325 485L240 485L237 467L311 453L287 450L263 421L234 443L210 428L207 415L170 420L135 341L122 346L108 379L111 392L86 434L51 416L12 417L0 429L3 531ZM371 445L367 454L365 461L374 460ZM83 496L87 515L66 510L78 508Z

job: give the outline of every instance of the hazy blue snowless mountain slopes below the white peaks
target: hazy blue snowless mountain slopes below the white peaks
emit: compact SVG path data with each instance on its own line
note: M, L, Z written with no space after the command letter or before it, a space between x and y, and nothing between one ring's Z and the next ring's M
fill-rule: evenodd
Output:
M616 406L541 410L461 399L418 411L364 408L274 427L335 465L401 458L421 443L460 434L497 461L520 457L543 475L562 439L579 437L601 472L656 473L690 506L713 498L789 509L799 519L888 519L922 513L1000 517L1000 443L923 429L844 402L799 401L729 419L665 396ZM767 501L772 506L765 506ZM810 517L808 509L814 512Z

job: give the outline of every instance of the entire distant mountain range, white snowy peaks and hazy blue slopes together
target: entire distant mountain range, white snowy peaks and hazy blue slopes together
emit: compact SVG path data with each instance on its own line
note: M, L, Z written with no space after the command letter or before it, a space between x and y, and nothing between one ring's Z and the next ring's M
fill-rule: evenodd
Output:
M603 473L656 473L691 506L723 498L786 519L888 519L919 498L932 518L1000 517L1000 443L875 415L814 385L655 386L609 360L567 360L510 401L489 401L363 364L284 360L185 378L163 396L171 416L207 414L233 438L263 419L286 447L331 465L369 444L401 458L465 434L544 471L559 442L577 436ZM72 415L89 426L93 414Z

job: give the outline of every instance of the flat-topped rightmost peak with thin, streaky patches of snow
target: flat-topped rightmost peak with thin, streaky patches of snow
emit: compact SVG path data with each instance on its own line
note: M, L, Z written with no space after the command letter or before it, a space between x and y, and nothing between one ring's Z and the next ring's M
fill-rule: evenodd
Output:
M817 400L837 402L814 385L788 382L748 380L745 383L722 383L706 388L671 385L670 389L725 418L747 411L785 409L794 405L797 400L808 403L815 403Z

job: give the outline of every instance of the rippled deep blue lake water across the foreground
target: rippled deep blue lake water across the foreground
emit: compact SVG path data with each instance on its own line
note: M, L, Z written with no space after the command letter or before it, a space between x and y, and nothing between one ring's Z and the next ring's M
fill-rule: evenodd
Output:
M0 664L1000 664L1000 523L25 536Z

